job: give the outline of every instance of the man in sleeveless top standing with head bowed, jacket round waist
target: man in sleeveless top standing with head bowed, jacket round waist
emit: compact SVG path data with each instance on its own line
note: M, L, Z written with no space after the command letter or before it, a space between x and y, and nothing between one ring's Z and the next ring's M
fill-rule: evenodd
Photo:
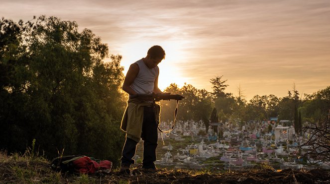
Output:
M131 98L136 94L163 93L158 88L158 64L165 59L165 51L160 46L152 46L145 58L129 66L122 89L129 94L127 108L121 121L121 129L126 131L126 141L122 150L120 171L129 173L134 164L136 145L143 140L142 168L156 170L157 127L160 107L152 102Z

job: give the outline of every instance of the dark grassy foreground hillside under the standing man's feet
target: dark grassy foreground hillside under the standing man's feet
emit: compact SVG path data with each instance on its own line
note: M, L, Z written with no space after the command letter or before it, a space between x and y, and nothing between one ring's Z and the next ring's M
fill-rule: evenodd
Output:
M51 170L49 161L42 158L0 154L0 183L70 183L70 184L330 184L330 172L320 169L275 172L254 168L249 172L212 173L209 171L159 169L155 173L135 170L134 175L121 175L118 170L110 174L61 174Z

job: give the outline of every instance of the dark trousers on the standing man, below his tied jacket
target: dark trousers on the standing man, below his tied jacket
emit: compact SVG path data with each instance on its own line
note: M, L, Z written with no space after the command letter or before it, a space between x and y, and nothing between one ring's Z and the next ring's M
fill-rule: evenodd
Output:
M142 134L143 140L143 168L155 168L156 148L158 140L158 124L156 123L155 112L152 107L144 107ZM134 164L132 159L135 155L136 145L138 142L126 137L124 147L122 149L121 166L130 166Z

